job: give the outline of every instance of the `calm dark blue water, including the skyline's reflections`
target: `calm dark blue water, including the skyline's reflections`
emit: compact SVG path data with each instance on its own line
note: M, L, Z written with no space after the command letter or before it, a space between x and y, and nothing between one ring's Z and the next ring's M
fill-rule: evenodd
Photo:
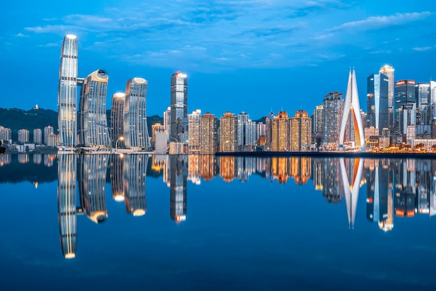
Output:
M436 159L0 155L1 290L435 290Z

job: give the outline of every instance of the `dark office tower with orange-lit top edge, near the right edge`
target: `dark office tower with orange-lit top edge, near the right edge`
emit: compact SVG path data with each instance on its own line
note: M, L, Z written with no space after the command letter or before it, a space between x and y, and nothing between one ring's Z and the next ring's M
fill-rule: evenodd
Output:
M416 82L401 80L395 83L395 132L407 134L408 125L416 125Z

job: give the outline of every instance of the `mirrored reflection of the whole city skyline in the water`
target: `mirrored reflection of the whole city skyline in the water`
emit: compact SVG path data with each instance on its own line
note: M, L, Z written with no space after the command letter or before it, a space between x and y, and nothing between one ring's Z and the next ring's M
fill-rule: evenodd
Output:
M7 170L1 172L6 177L3 179L26 180L22 169L28 171L32 163L40 167L42 161L48 168L56 162L56 155L0 155L0 166ZM40 171L38 167L36 171ZM355 228L358 216L366 216L380 230L390 231L400 217L436 213L436 159L59 155L57 169L59 231L65 258L74 258L77 253L78 214L85 214L95 223L109 219L107 192L113 200L124 203L127 214L146 215L147 176L162 179L169 187L169 217L177 223L187 220L188 181L193 187L201 187L201 183L215 178L230 184L249 183L253 175L267 183L312 182L319 197L346 211L350 228ZM29 179L39 178L33 173L29 176ZM30 181L36 185L39 182ZM302 191L290 193L303 194ZM360 203L366 202L366 207L357 207L359 194L366 197L360 199ZM366 213L359 214L357 209L366 209Z

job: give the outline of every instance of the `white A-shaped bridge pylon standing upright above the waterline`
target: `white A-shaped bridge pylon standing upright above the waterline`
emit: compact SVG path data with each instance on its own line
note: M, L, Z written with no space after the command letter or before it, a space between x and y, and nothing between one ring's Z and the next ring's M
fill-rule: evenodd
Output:
M350 118L350 116L352 118ZM341 120L341 129L339 131L339 143L338 146L341 148L343 146L343 141L345 138L345 128L350 120L354 120L353 125L357 124L355 127L355 146L360 147L361 151L365 151L365 134L364 125L361 119L360 104L359 104L359 93L357 93L357 81L355 70L350 70L348 74L348 85L347 93L345 94L345 103L343 107L343 115Z

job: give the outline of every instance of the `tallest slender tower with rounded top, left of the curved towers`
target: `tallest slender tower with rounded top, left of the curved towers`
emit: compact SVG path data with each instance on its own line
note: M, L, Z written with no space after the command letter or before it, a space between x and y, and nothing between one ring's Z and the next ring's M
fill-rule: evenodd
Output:
M59 69L58 125L59 145L77 144L77 36L63 38Z

